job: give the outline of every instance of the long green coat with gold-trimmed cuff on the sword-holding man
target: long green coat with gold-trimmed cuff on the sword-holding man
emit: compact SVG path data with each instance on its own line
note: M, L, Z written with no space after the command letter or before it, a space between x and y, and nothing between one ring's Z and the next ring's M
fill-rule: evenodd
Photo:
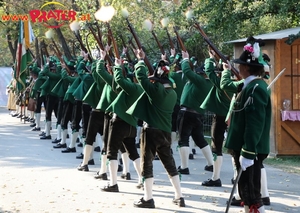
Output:
M262 79L252 80L237 97L231 114L225 147L248 159L270 152L271 100L267 86Z

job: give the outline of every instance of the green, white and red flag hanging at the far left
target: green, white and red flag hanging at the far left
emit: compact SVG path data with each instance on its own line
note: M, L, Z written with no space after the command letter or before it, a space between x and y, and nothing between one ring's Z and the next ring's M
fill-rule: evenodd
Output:
M18 49L15 62L15 79L17 80L17 92L23 92L26 88L26 78L29 75L28 64L32 61L31 55L25 49L24 23L20 21Z

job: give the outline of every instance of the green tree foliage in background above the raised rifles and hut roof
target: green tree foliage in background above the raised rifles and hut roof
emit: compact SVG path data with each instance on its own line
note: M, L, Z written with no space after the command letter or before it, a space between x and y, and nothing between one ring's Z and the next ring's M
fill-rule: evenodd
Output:
M1 4L2 2L5 2L5 4ZM146 19L151 20L158 40L164 50L169 53L170 46L167 35L160 24L162 18L168 17L170 23L167 29L172 40L175 41L177 51L181 50L176 42L176 36L173 31L174 26L179 26L178 32L190 56L196 56L200 63L208 56L207 44L193 27L193 23L187 21L184 13L189 9L194 11L195 19L204 29L212 43L226 55L232 55L232 45L227 44L227 41L292 28L300 24L300 3L298 0L181 0L180 4L161 0L59 0L59 2L63 3L67 8L76 9L79 15L90 14L91 20L89 22L97 22L100 25L104 43L107 42L107 27L104 23L95 20L94 13L102 5L111 4L116 9L116 15L110 21L110 25L120 50L122 49L120 35L126 42L132 38L126 20L121 15L121 10L126 7L129 12L128 20L145 47L148 58L153 62L160 58L160 52L152 34L143 28L143 22ZM1 1L0 13L28 13L33 8L39 8L41 4L43 3L38 0L22 0L18 1L18 7L16 7L13 0ZM0 39L0 43L1 47L3 47L2 49L5 49L1 49L1 52L4 54L5 61L7 61L11 56L8 56L9 51L7 51L8 45L5 44L5 42L7 43L5 35L10 33L12 40L16 39L17 28L13 22L0 22L0 35L4 35ZM94 49L97 43L93 36L90 35L89 30L84 28L84 25L85 22L82 23L83 29L80 31L80 34L84 43L89 44L88 46ZM39 39L45 39L44 33L48 30L47 28L41 24L33 24L33 29ZM69 45L78 49L78 42L76 42L68 24L64 25L61 30ZM298 39L298 37L294 37L294 39Z

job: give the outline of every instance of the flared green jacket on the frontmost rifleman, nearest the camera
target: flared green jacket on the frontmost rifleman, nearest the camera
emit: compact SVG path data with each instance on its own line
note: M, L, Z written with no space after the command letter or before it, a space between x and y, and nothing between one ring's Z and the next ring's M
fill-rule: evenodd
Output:
M172 113L177 100L176 92L169 84L151 83L143 61L135 65L135 75L144 92L127 113L155 128L171 132Z

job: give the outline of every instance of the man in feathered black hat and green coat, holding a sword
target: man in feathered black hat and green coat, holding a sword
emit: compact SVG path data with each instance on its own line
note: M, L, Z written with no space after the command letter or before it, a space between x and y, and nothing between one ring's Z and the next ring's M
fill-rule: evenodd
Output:
M239 194L246 213L264 213L261 199L261 164L270 151L271 99L267 83L261 78L259 42L247 43L233 62L239 64L244 85L231 110L225 147L231 152L237 169L242 169ZM228 67L230 68L230 67Z

